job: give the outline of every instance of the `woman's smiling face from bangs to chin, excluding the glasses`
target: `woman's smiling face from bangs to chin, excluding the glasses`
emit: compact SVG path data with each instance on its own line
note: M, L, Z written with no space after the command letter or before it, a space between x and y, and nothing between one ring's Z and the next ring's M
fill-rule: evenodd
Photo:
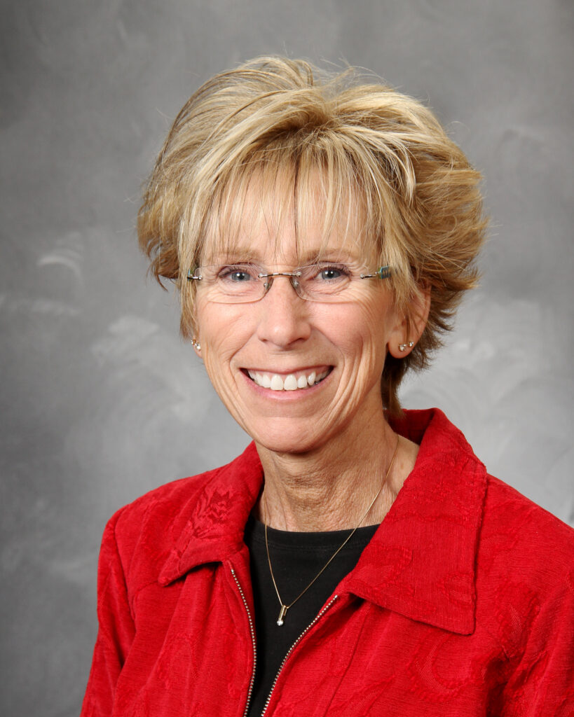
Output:
M252 260L273 271L304 263L293 226L277 237L261 223L250 231L248 245ZM303 248L313 256L320 246L318 219ZM326 258L376 267L375 257L359 252L334 233ZM235 420L266 449L321 450L349 435L368 437L384 422L385 355L388 346L404 341L385 280L357 282L353 300L344 303L301 299L286 277L276 277L253 303L212 303L198 290L196 323L212 384Z

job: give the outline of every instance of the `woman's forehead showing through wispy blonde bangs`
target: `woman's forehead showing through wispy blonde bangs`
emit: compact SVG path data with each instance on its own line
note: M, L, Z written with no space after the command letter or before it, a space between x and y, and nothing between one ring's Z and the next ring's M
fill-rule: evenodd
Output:
M265 169L267 171L265 171ZM376 253L364 202L352 186L333 188L318 171L259 169L214 203L202 263L241 258L304 264L321 257L358 260Z

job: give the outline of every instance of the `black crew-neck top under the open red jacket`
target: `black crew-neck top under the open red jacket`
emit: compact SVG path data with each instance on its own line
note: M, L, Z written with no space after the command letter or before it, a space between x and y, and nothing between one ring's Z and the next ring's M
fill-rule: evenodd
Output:
M379 526L358 528L342 551L307 592L289 608L283 625L277 625L281 605L271 580L265 526L249 518L245 544L250 553L251 581L255 602L257 666L248 717L259 716L288 650L315 619L337 584L357 564ZM341 546L351 531L293 533L268 528L267 536L273 575L285 604L291 604Z

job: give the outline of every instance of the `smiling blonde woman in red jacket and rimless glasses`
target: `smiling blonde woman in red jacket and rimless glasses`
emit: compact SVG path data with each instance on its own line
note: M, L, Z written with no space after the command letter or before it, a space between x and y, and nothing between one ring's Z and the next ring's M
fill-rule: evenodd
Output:
M476 281L479 179L351 72L184 106L140 242L253 442L108 523L83 715L574 714L573 532L397 397Z

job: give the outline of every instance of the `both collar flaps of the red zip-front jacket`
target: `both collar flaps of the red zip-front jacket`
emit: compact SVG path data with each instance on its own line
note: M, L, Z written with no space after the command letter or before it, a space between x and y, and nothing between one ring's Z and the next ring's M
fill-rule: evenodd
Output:
M438 409L405 412L392 428L420 445L415 467L339 594L461 635L474 631L474 566L486 469ZM161 584L243 548L263 482L252 443L210 474L159 576Z

